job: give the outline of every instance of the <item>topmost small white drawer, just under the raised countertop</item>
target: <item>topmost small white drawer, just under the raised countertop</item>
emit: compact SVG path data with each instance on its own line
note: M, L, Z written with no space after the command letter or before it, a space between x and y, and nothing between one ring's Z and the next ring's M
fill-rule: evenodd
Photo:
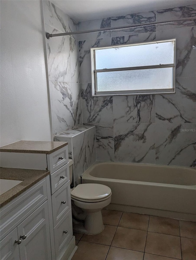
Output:
M68 146L62 147L52 154L47 154L48 170L50 170L51 173L54 173L68 162Z

